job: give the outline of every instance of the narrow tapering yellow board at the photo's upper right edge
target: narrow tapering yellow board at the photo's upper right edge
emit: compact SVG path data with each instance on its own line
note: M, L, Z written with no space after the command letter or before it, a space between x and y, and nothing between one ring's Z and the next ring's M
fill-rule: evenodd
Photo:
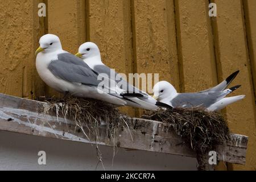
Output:
M256 97L256 1L246 0L244 10L246 17L246 33L250 53L251 72L253 73L254 97ZM256 103L256 98L255 103Z

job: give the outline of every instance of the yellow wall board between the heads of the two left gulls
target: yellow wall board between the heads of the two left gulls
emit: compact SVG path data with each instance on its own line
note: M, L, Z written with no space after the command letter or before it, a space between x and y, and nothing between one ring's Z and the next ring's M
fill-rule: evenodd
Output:
M65 51L76 53L85 42L85 0L48 0L48 33L59 36ZM59 96L46 87L47 95Z

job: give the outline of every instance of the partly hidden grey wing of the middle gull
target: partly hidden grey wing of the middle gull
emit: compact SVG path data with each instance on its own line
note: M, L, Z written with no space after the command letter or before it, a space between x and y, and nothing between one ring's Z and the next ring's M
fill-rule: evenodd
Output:
M129 84L129 82L127 82L121 75L115 72L114 69L110 69L106 65L96 65L93 69L98 73L105 73L108 75L110 79L115 80L115 82L120 86L119 88L125 90L127 93L140 93L143 94L143 96L148 96L148 94Z

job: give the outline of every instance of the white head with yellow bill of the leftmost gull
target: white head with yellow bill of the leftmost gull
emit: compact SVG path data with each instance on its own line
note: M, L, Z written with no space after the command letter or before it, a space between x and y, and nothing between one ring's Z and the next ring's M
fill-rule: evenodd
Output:
M39 52L54 52L61 50L61 43L58 36L53 34L43 35L39 40L40 47L36 49L35 55L38 55Z

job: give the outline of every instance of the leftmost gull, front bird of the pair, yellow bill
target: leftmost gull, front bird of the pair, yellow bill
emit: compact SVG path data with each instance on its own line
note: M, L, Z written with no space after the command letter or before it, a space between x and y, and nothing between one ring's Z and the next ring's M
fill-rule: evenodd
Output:
M121 96L123 90L117 86L100 88L98 85L102 80L98 80L99 74L79 57L64 51L56 35L42 36L39 44L35 52L36 70L48 86L76 97L94 98L118 106L126 105Z

